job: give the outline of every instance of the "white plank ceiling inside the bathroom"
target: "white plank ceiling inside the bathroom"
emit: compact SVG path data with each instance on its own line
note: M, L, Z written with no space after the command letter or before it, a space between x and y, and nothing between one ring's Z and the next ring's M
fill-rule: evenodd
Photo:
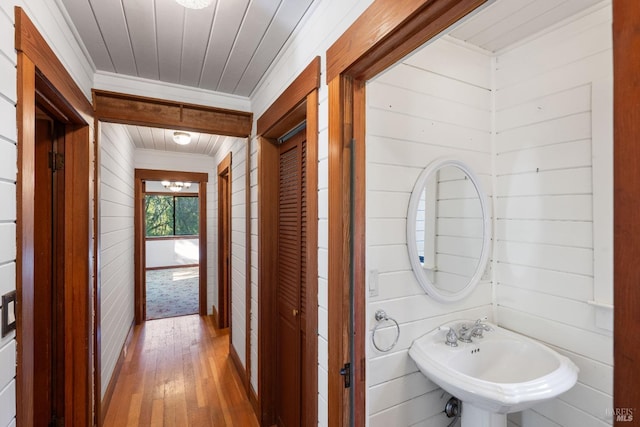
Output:
M499 52L602 0L498 0L454 28L450 36Z

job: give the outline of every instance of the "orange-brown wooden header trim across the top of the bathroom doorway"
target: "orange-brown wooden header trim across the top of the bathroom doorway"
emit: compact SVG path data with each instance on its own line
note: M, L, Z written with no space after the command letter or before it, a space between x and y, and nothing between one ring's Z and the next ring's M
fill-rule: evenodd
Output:
M374 1L327 50L327 83L371 79L486 1Z

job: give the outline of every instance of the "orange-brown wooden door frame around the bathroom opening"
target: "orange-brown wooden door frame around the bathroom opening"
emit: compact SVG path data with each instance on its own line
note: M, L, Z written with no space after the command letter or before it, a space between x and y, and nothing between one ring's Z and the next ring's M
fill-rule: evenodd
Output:
M396 63L424 42L479 7L482 0L376 0L327 51L329 84L329 424L348 425L348 406L339 368L349 360L344 348L349 332L345 271L354 276L356 363L354 423L364 425L364 82ZM640 9L613 0L614 52L614 407L637 409L640 401L640 343L628 331L638 325L635 305L640 301L640 61L630 54L640 49ZM356 145L350 142L355 138ZM355 209L343 197L351 185L347 159L355 152ZM348 230L348 224L355 230ZM345 224L343 227L342 224ZM350 262L348 237L354 260ZM358 364L362 364L360 367ZM634 409L635 410L635 409ZM618 424L618 423L616 423ZM622 425L620 423L620 425Z

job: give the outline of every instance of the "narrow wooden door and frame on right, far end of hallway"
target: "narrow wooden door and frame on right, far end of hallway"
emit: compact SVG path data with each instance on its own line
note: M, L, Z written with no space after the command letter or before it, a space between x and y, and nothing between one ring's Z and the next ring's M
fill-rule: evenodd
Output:
M231 326L231 153L218 165L218 328Z

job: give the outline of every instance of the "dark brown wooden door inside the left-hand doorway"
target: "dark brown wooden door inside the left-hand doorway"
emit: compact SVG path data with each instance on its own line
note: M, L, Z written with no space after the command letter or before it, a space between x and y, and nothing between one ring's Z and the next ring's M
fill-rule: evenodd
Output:
M36 118L34 227L34 422L64 424L64 126Z

